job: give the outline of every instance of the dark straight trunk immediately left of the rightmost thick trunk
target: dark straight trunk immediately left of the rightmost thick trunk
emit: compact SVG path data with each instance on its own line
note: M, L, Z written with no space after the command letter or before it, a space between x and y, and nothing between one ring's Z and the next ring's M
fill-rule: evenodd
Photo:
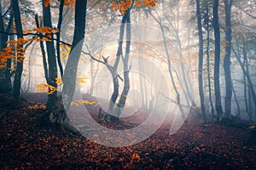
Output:
M215 108L217 111L217 121L223 115L221 94L219 85L219 63L220 63L220 32L218 26L218 0L213 1L213 20L212 25L214 29L215 38L215 58L214 58L214 90L215 90Z

